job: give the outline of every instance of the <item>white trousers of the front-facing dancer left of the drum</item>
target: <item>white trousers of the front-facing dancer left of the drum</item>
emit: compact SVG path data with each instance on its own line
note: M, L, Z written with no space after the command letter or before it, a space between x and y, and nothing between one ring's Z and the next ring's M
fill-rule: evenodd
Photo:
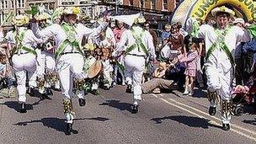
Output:
M80 54L66 54L57 60L57 72L65 99L72 99L73 79L83 80L83 56ZM83 98L83 91L77 91L78 98Z

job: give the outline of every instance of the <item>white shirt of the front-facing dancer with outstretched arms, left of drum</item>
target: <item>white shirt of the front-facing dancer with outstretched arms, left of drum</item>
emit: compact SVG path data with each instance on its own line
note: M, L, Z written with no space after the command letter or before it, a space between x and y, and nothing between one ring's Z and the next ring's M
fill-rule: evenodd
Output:
M88 35L98 35L100 30L104 28L104 25L100 25L97 29L89 29L83 24L76 24L75 31L76 31L76 39L77 42L81 45L83 36ZM61 42L67 39L67 35L64 29L61 28L60 24L52 24L51 26L46 27L45 29L40 30L38 24L32 24L32 29L35 35L39 37L45 37L47 39L51 38L52 36L55 37L56 40L56 48L61 45ZM70 52L76 51L73 50L72 45L67 45L66 49L63 52Z

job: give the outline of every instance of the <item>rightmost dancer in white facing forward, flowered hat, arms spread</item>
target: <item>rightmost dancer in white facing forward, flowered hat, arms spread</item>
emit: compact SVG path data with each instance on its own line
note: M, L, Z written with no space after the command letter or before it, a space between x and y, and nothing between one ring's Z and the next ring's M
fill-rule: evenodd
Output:
M211 102L209 114L216 115L216 105L220 95L222 129L228 131L232 110L232 74L235 67L232 55L237 42L251 40L251 36L247 29L229 25L230 19L235 15L231 9L221 6L212 9L211 14L216 19L217 28L204 24L198 31L194 27L194 34L196 37L205 39L207 97ZM189 19L187 26L191 28L193 23L197 22Z

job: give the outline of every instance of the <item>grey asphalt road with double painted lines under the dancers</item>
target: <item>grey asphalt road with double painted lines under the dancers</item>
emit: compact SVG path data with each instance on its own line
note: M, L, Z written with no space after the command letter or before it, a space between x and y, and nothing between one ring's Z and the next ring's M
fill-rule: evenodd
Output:
M61 93L51 100L28 97L28 112L20 114L16 99L0 99L0 143L256 143L256 120L251 107L232 117L231 131L221 130L220 112L208 115L205 93L143 94L139 112L131 114L132 97L124 86L87 104L73 101L79 133L66 136Z

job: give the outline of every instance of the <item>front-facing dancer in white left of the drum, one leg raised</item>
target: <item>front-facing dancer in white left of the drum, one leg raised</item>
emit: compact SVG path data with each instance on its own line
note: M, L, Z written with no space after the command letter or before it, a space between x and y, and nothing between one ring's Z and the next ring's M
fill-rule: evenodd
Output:
M72 88L75 83L76 95L79 98L80 106L85 105L83 98L83 52L80 49L83 35L99 34L102 29L100 25L97 29L88 29L83 24L77 23L77 14L80 9L77 7L65 8L63 13L64 21L61 24L52 24L45 29L40 30L37 24L33 24L33 30L39 37L56 38L57 72L63 88L63 106L64 114L67 118L67 135L71 135L74 112L72 109ZM34 19L35 21L35 19ZM104 23L103 23L104 24Z

